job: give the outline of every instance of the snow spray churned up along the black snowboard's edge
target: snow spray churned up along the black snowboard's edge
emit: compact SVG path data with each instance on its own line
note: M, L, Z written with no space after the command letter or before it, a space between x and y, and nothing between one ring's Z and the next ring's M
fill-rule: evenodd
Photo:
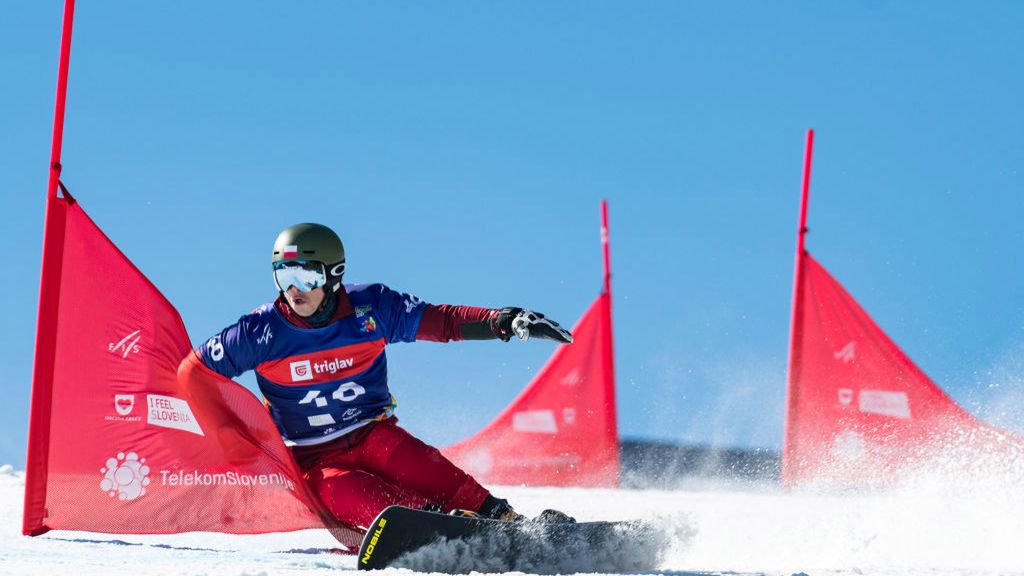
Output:
M398 558L392 568L417 572L572 574L656 570L665 556L685 545L694 531L687 522L624 527L600 545L578 535L551 537L543 525L522 530L442 539Z

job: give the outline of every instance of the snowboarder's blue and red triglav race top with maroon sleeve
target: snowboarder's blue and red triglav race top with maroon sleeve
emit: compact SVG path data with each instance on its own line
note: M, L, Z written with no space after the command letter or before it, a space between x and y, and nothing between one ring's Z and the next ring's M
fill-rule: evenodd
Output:
M344 285L324 327L306 324L283 297L266 303L196 349L209 369L256 381L286 444L339 438L391 415L385 345L462 339L460 326L497 311L427 304L383 284Z

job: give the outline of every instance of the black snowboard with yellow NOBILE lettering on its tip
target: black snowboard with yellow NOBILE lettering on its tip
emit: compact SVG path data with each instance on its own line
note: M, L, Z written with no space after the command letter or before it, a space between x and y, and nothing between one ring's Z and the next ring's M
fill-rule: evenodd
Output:
M639 572L655 569L662 546L652 540L657 540L656 530L642 521L499 522L390 506L370 525L356 569Z

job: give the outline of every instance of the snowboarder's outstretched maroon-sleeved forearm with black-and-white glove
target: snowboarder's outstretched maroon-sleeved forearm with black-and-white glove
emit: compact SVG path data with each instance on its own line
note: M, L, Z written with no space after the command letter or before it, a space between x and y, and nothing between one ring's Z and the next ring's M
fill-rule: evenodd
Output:
M452 340L509 341L546 338L571 343L572 334L543 314L515 306L501 310L451 304L427 304L423 311L417 340L447 342Z

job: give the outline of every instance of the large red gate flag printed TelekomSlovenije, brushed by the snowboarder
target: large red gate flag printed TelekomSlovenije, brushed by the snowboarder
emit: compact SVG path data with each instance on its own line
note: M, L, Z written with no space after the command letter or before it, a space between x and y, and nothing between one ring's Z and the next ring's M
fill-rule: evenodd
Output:
M255 396L178 383L180 317L70 197L49 200L42 282L27 534L325 527Z

